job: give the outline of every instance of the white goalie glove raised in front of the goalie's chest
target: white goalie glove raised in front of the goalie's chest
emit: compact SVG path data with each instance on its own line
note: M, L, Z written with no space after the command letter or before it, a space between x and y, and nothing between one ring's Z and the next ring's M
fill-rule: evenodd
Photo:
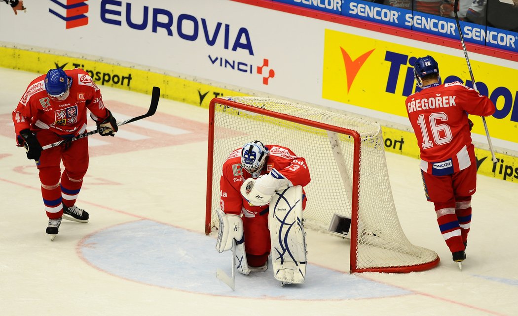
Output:
M241 195L251 205L263 206L270 203L275 191L289 184L290 181L274 168L270 173L262 175L257 179L248 178L244 180L241 185Z

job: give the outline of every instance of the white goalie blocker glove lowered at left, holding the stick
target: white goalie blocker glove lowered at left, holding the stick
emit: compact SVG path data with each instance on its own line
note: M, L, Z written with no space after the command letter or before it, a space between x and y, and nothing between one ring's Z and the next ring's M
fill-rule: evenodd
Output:
M219 253L232 249L233 240L236 244L244 242L243 220L239 215L225 214L221 209L216 210L220 220L220 229L216 241L216 250Z

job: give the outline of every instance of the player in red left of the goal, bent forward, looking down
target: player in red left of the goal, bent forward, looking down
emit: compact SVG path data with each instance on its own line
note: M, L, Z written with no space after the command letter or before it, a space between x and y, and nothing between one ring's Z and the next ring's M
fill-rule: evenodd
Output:
M88 169L88 138L45 151L41 146L84 133L87 109L97 127L106 128L102 136L114 136L117 121L104 107L100 90L89 74L77 68L56 68L34 79L12 112L17 145L24 146L27 158L36 161L49 218L46 232L52 240L62 217L88 222L89 214L75 205ZM61 161L65 167L62 174Z

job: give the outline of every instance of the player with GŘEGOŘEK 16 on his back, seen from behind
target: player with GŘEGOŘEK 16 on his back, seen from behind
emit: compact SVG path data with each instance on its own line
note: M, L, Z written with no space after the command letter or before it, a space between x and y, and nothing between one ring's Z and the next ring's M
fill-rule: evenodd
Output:
M442 236L453 261L466 259L471 222L471 195L477 185L477 162L468 114L488 116L495 104L460 82L440 84L439 65L418 58L414 75L420 92L406 101L408 118L421 149L426 198L433 202Z

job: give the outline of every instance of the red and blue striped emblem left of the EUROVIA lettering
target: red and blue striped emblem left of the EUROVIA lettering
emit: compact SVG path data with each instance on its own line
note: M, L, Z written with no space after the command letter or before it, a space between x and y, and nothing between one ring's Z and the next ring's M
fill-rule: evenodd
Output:
M76 0L73 4L68 4L68 0L51 0L51 7L49 12L54 14L57 18L65 21L65 27L74 28L88 24L88 17L85 13L88 13L88 0Z

